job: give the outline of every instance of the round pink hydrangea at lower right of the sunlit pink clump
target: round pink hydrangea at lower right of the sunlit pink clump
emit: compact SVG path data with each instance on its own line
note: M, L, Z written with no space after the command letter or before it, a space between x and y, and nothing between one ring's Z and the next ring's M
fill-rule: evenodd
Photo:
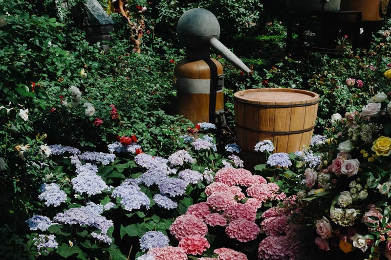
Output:
M254 221L244 218L231 221L225 228L225 233L227 233L230 238L237 239L240 242L254 240L260 232L260 227L258 227Z

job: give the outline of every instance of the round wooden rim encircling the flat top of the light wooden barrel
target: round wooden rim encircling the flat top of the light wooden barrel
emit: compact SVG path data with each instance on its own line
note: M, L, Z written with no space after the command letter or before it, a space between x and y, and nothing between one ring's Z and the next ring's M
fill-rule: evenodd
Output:
M251 93L261 93L261 92L282 92L282 93L292 93L292 94L303 94L308 96L308 99L297 100L297 101L267 101L267 100L249 100L243 96ZM298 89L249 89L242 90L234 95L234 100L249 105L257 105L260 107L271 107L271 108L284 108L284 107L300 107L300 106L309 106L319 103L319 95L306 90Z

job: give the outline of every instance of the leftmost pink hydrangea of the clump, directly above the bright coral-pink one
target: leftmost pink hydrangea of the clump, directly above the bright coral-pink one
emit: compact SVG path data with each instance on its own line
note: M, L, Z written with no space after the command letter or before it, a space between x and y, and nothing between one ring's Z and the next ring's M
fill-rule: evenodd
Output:
M175 219L170 226L170 232L176 239L181 240L186 236L205 236L208 233L208 226L195 215L185 214Z

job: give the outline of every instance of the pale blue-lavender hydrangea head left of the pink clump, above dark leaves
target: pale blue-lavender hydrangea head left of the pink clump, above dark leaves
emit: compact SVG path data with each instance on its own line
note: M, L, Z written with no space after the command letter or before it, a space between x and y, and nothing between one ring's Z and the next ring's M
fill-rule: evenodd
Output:
M150 199L141 191L140 187L122 183L115 188L111 194L112 197L120 197L121 204L127 211L139 210L141 206L149 209Z

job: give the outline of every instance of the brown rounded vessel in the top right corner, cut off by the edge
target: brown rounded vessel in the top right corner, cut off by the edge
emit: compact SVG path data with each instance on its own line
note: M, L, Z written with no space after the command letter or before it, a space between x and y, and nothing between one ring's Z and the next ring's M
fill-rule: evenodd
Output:
M341 11L363 13L363 21L381 21L387 13L389 0L341 0Z

